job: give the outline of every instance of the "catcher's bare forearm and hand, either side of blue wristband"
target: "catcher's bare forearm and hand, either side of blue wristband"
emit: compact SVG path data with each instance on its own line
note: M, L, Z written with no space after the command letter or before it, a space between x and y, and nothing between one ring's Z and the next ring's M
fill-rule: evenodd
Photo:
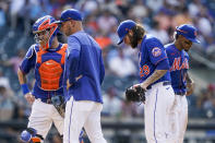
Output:
M19 69L17 70L17 78L19 78L19 81L20 81L20 84L23 85L23 84L26 84L26 75ZM29 104L33 104L34 100L35 100L35 97L32 95L32 93L26 93L25 95L25 98L26 100L29 103Z

